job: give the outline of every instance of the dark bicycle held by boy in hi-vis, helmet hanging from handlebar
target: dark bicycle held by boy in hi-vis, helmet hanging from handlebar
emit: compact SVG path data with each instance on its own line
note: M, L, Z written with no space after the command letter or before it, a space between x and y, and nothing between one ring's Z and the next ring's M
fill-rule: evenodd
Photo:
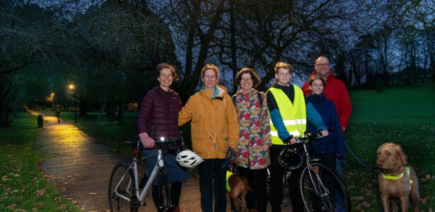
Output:
M321 139L319 133L306 133L296 139L296 144L284 148L279 157L283 154L297 154L288 157L285 161L279 162L286 166L287 170L302 169L299 176L298 187L301 192L303 206L306 211L351 211L349 192L343 179L318 159L311 158L307 151L306 143ZM291 159L289 159L291 158ZM294 173L291 173L294 174Z

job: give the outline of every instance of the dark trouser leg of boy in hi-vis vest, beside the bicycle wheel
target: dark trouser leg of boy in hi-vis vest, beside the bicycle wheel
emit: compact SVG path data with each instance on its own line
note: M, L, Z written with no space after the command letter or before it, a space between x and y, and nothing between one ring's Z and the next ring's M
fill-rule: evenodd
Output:
M278 163L278 155L285 145L272 145L269 149L270 154L270 184L269 184L269 200L272 206L272 212L280 212L282 204L282 189L284 170Z

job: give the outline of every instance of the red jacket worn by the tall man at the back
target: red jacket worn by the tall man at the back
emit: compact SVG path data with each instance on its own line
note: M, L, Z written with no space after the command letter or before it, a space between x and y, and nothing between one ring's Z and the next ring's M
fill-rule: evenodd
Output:
M315 71L311 74L315 75ZM352 105L350 105L349 93L347 93L347 88L343 81L334 78L334 72L330 71L330 74L326 78L325 96L327 99L334 102L335 108L337 109L337 114L340 119L340 126L342 126L342 132L349 122L350 113L352 112ZM308 89L308 81L303 83L302 90L303 94L311 94L311 90Z

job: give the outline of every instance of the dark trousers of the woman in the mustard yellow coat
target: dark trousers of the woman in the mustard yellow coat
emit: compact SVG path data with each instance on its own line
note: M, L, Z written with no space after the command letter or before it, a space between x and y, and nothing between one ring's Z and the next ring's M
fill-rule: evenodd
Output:
M205 159L199 165L199 192L201 208L204 212L226 211L226 169L222 169L225 159ZM213 182L214 179L214 182Z

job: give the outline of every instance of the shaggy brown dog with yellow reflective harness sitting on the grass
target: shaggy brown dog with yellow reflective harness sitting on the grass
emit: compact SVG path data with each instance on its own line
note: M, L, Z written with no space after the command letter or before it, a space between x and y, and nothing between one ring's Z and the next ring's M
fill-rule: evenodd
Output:
M381 170L378 179L383 211L390 211L390 205L393 206L393 211L398 211L396 199L400 200L402 211L407 211L410 194L413 210L419 211L417 175L414 168L408 164L402 148L395 143L383 143L379 146L377 155L376 165Z

